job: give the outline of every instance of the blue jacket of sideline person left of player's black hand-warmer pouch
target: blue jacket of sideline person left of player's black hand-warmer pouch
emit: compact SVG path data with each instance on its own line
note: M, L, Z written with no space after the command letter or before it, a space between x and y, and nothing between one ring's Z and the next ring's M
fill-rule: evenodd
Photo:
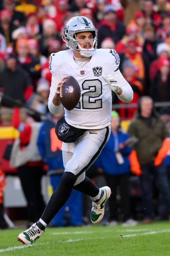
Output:
M48 134L50 134L50 129L51 129L51 127L49 126L49 123L51 127L54 126L55 128L55 124L53 124L53 122L45 121L40 128L38 140L37 140L37 146L38 146L39 152L43 157L44 162L48 164L48 171L64 168L62 151L57 149L56 152L51 152L51 154L49 153L50 136L48 136ZM49 128L47 128L47 126ZM48 138L48 143L47 143L47 138Z

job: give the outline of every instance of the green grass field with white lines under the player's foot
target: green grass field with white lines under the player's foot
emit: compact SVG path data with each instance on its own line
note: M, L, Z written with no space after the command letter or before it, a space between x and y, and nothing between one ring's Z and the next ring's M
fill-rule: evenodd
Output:
M17 241L23 229L0 231L0 256L169 256L170 223L136 227L47 228L32 246Z

